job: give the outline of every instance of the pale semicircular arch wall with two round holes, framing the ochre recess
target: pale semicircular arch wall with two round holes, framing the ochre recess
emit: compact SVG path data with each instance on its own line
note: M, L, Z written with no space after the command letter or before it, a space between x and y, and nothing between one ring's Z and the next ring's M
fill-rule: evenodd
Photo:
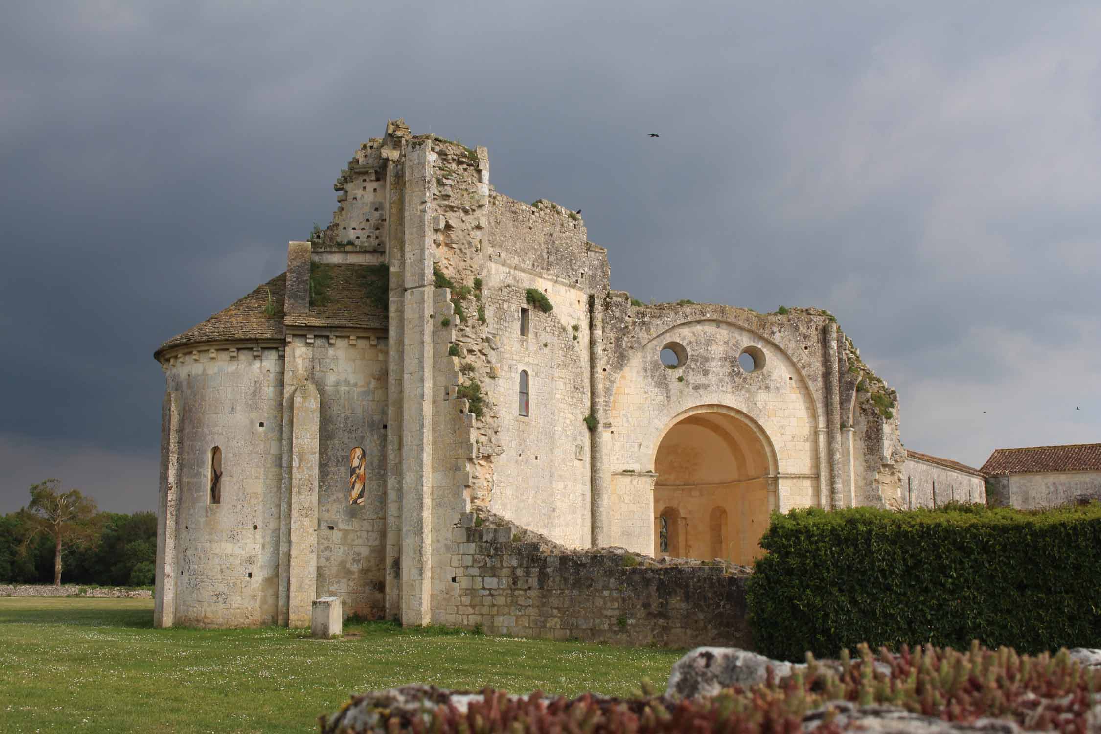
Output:
M659 358L671 342L685 353L674 369ZM739 365L739 354L750 347L763 354L763 369L746 372ZM661 482L655 461L664 436L697 413L737 416L767 447L763 476L770 486L770 510L820 506L817 397L795 361L764 336L713 319L678 324L634 350L609 392L610 425L603 438L617 545L653 545L653 518L647 526L651 537L643 539L637 533L641 518L633 515L640 512L640 497ZM729 461L737 464L741 450L733 447ZM651 514L652 510L651 505Z

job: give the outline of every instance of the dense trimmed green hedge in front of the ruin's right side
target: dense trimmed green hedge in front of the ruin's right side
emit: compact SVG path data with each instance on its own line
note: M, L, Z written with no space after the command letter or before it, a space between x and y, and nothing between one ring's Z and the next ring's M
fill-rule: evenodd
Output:
M866 642L1101 647L1101 504L1044 513L774 514L749 581L759 651L802 659Z

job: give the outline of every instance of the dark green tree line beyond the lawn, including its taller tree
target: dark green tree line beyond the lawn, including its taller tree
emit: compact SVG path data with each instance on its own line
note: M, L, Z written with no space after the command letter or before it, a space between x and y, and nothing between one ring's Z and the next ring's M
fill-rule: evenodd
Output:
M100 512L79 490L47 479L19 512L0 515L0 583L150 587L156 514Z

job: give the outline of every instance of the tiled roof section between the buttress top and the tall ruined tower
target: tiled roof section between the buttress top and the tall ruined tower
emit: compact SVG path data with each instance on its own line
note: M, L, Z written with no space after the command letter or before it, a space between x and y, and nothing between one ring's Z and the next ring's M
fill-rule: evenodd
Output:
M389 277L385 267L378 265L326 265L331 277L325 288L328 297L324 306L310 306L308 314L287 314L286 326L336 327L346 329L385 329L389 320L384 300L389 299L385 286L379 281ZM383 302L371 297L374 287L381 286Z

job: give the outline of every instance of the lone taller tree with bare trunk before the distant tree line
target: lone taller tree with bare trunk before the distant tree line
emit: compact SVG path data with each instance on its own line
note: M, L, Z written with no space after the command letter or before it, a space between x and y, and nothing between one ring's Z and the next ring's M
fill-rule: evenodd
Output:
M26 555L31 541L45 535L54 541L54 585L62 584L62 551L94 545L99 539L96 501L80 490L62 492L61 480L47 479L31 487L31 504L20 511L28 533L20 550Z

